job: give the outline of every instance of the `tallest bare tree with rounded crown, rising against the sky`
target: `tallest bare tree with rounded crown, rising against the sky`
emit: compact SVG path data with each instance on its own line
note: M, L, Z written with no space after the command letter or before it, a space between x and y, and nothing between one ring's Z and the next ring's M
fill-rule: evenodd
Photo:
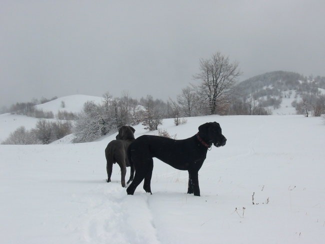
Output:
M217 100L230 94L240 75L239 63L230 63L228 57L216 52L210 59L200 59L199 64L200 72L193 76L201 80L197 86L198 95L208 103L209 113L213 114L217 110Z

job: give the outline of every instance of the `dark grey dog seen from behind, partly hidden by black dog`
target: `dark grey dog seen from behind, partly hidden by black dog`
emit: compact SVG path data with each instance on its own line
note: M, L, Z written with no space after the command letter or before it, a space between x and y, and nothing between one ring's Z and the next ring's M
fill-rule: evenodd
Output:
M113 163L117 162L121 170L121 184L122 187L125 187L125 174L126 167L130 166L127 159L127 147L129 144L135 140L134 138L135 129L131 126L124 125L118 129L118 134L116 135L116 140L112 140L108 143L105 149L106 157L106 170L107 170L107 182L110 182L111 171ZM133 170L131 170L133 171ZM133 179L133 174L131 173L130 179L127 181L130 182Z

